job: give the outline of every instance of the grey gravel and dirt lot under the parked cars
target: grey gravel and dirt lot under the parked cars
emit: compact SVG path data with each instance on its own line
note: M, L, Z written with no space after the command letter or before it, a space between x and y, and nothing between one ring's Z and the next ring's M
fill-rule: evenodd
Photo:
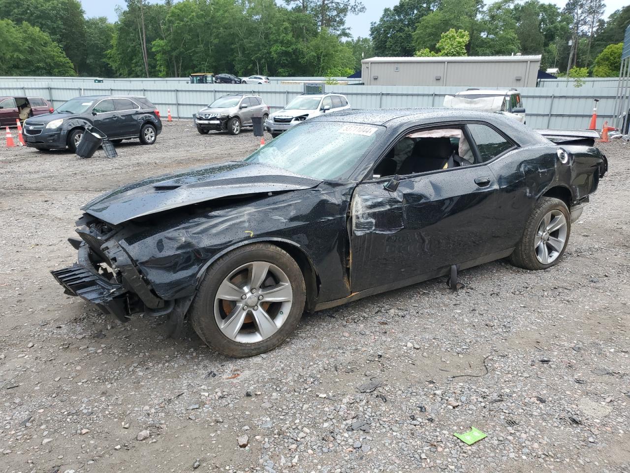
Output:
M0 149L1 472L630 471L627 144L602 145L609 175L558 266L373 296L230 359L161 318L118 324L49 274L74 262L91 197L258 146L191 125L115 160ZM471 426L488 436L468 447L453 433Z

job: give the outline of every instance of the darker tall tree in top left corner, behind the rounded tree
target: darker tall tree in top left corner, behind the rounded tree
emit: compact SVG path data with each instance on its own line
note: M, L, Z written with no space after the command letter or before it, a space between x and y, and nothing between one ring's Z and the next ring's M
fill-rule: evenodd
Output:
M15 23L26 21L57 42L81 72L85 61L86 26L78 0L0 0L0 17Z

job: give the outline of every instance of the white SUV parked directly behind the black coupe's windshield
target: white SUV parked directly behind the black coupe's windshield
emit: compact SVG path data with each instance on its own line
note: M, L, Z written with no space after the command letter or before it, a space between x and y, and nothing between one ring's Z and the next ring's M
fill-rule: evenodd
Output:
M306 119L341 110L350 110L350 103L344 95L303 93L287 103L282 110L269 115L269 119L265 122L265 128L273 137L276 137Z

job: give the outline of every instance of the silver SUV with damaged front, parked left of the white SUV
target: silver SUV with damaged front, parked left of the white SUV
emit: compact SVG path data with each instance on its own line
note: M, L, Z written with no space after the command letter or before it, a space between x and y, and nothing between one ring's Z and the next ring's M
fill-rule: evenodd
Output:
M238 135L243 127L253 126L252 117L269 116L269 105L258 95L233 93L217 98L195 114L195 126L202 135L210 130Z

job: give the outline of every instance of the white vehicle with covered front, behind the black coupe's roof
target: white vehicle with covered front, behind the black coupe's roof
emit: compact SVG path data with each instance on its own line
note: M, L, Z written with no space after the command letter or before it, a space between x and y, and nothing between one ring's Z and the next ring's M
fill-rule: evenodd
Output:
M467 89L444 97L444 107L465 108L501 114L525 123L525 107L520 92L510 90Z

